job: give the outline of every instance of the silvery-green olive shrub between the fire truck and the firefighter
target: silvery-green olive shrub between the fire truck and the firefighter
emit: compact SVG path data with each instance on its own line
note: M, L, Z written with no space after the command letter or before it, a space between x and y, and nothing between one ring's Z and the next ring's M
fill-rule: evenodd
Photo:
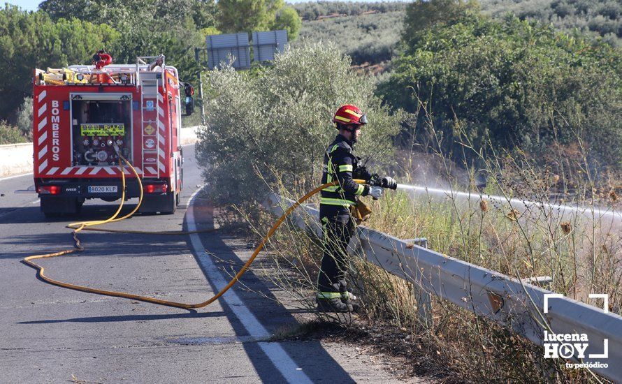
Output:
M218 205L262 200L266 186L256 172L268 184L278 174L286 185L317 186L339 105L354 103L367 113L370 124L356 151L371 163L390 157L400 121L333 44L287 50L259 72L212 71L205 89L208 125L198 133L196 156Z

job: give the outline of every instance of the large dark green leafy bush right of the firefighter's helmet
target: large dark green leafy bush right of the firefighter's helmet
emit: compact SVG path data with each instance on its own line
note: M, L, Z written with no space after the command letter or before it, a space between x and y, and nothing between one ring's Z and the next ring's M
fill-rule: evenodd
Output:
M592 164L622 169L622 54L552 27L466 13L405 36L380 93L417 112L428 103L443 150L462 153L456 128L476 148L520 147L543 158L551 145L583 140ZM426 122L415 128L430 140Z

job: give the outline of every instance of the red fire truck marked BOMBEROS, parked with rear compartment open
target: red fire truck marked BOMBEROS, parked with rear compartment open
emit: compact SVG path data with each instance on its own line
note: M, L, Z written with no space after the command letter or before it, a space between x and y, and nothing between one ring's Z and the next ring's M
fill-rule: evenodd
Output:
M139 196L143 213L171 214L182 189L178 71L164 56L34 71L34 184L45 216L76 214L87 199Z

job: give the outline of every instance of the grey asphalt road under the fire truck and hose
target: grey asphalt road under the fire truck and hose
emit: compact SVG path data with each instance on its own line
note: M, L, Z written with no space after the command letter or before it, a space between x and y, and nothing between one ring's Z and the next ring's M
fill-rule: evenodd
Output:
M188 208L203 181L194 145L185 147L185 157L185 190L176 214L133 216L110 228L212 228L213 207L202 194ZM71 248L66 224L105 219L118 202L89 200L80 216L50 221L39 211L36 194L13 192L31 184L32 175L0 179L0 383L396 381L354 346L269 341L275 330L296 323L293 314L239 286L209 307L187 311L38 281L22 258ZM130 200L123 212L133 204ZM240 265L252 251L219 232L173 237L82 232L80 239L86 251L78 256L38 260L48 276L189 303L211 297L228 281L223 264ZM274 297L252 272L243 281Z

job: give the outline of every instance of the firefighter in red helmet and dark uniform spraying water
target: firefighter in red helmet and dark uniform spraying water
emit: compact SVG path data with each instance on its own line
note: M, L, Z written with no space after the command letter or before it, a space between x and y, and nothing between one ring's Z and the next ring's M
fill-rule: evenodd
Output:
M317 309L322 312L354 312L359 304L347 287L347 245L355 227L353 214L359 196L380 198L382 187L396 189L391 177L380 179L359 164L353 146L367 124L366 115L355 105L343 105L333 117L339 134L324 154L322 184L337 181L338 185L321 191L319 219L324 230L324 255L317 279ZM363 179L367 184L357 184Z

